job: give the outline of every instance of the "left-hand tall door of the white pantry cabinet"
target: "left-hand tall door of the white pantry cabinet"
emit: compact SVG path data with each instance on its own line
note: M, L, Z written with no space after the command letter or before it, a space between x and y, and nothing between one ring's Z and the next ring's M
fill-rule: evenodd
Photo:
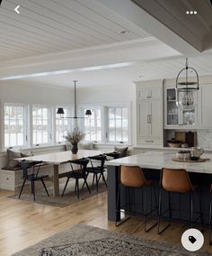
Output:
M137 136L149 136L149 103L147 101L137 102Z

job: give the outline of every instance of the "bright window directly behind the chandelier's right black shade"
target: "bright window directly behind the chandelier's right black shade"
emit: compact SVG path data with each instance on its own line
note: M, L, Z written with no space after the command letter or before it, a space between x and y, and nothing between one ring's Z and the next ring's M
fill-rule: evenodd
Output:
M84 109L85 114L86 109ZM101 108L91 109L92 115L84 118L84 140L101 142L102 141L102 120Z

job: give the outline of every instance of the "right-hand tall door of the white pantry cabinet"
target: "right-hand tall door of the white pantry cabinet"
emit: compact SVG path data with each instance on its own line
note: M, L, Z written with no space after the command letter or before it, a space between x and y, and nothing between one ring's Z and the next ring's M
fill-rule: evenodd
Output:
M150 117L150 136L160 138L162 136L163 127L163 113L161 101L155 100L150 103L151 117Z

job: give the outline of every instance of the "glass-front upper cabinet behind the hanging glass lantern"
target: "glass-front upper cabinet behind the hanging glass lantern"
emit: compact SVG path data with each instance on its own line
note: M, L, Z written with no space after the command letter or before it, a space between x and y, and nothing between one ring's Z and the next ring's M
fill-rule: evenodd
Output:
M192 111L182 111L176 105L175 87L165 88L165 128L195 128L197 125L197 107ZM194 99L198 104L198 99Z

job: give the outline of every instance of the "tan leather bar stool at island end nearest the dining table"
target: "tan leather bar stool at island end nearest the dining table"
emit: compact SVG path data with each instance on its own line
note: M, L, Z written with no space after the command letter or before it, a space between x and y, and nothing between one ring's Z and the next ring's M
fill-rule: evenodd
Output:
M147 180L144 176L143 170L138 167L138 166L120 166L119 167L119 188L118 188L118 196L117 196L117 207L116 207L116 226L119 226L119 224L122 224L124 222L126 222L129 218L125 217L123 220L118 221L119 219L119 215L121 215L121 210L120 207L123 206L119 206L119 201L120 201L120 187L125 187L126 189L129 188L141 188L142 189L142 198L144 196L144 216L145 216L145 231L148 232L150 231L152 228L155 227L155 225L157 225L157 223L151 225L150 227L146 228L146 216L150 215L151 213L155 212L158 215L158 206L157 205L157 199L156 199L156 194L155 194L155 208L152 207L152 193L151 193L151 209L148 213L146 213L146 202L147 202L147 193L146 193L146 187L150 187L152 189L154 189L154 193L155 193L155 186L154 186L154 182L152 180ZM152 190L151 190L152 192ZM131 193L131 196L134 196L134 193ZM128 199L125 198L127 200L127 204L128 205ZM143 200L142 200L143 203ZM129 203L131 204L131 203ZM142 204L143 205L143 204ZM125 213L128 212L128 206L125 210ZM130 212L130 210L129 210Z

